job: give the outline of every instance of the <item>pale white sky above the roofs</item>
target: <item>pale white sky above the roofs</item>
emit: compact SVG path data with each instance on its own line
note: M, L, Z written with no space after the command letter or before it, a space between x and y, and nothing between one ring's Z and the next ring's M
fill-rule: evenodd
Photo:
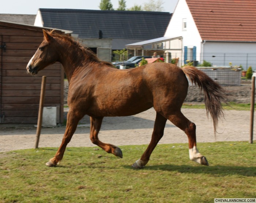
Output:
M135 4L143 5L149 0L126 0L126 8ZM1 0L0 13L37 14L38 8L72 8L99 10L101 0ZM173 13L178 0L162 0L165 12ZM111 0L113 8L118 8L118 0Z

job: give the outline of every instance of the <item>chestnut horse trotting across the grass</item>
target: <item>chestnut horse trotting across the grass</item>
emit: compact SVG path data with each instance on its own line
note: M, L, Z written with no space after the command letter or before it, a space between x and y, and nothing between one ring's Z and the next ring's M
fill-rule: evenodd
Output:
M27 72L38 71L60 62L69 83L67 126L62 143L55 156L46 165L53 167L61 161L79 120L90 116L90 139L108 153L123 157L120 148L102 143L98 138L105 116L131 116L154 107L156 118L151 142L142 157L132 166L143 168L163 136L167 119L188 136L189 158L208 165L206 157L196 148L196 125L182 113L181 106L187 96L188 79L203 89L207 116L210 112L214 132L222 118L223 89L195 67L180 68L170 63L151 63L134 69L118 70L103 62L90 50L69 36L43 30L44 40L30 59ZM187 77L186 77L187 75Z

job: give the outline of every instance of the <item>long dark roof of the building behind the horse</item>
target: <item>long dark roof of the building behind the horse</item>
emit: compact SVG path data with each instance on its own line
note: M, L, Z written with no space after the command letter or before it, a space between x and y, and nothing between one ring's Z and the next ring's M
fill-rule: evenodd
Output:
M39 11L45 27L72 30L79 38L98 38L101 30L103 38L113 39L113 49L125 48L120 41L129 44L162 37L172 16L169 12L148 11L46 8Z

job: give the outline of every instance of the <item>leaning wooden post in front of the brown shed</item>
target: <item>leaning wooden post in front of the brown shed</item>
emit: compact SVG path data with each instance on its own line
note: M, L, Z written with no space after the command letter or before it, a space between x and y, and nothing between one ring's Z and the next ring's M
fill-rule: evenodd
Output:
M37 118L37 138L35 141L35 149L38 148L41 127L42 127L42 116L43 116L43 108L44 108L44 97L45 97L45 83L46 83L46 76L42 77L42 84L41 84L41 94L40 94L40 102L39 102L39 110L38 110L38 118Z

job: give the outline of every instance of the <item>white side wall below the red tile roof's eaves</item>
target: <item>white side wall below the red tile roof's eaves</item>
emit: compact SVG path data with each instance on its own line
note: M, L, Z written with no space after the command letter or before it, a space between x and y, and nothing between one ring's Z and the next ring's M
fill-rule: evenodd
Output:
M201 60L214 66L240 66L247 70L256 69L256 43L249 42L205 42Z

